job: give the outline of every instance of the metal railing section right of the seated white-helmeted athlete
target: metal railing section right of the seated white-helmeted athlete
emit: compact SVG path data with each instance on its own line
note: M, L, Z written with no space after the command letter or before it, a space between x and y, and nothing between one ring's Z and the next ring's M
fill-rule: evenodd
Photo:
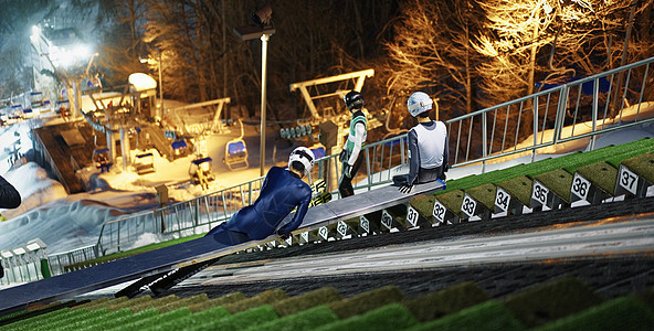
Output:
M654 106L643 103L645 96L654 98L654 90L646 89L653 62L651 57L447 120L450 162L485 166L524 154L534 160L548 146L579 139L588 139L592 150L601 134L652 121L641 110Z

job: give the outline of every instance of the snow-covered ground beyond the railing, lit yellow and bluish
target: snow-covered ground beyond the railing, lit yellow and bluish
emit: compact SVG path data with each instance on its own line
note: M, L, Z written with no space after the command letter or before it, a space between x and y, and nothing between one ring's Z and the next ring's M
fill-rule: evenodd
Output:
M648 107L653 108L653 107ZM643 115L641 109L641 115ZM587 124L582 124L587 126ZM233 131L240 131L235 129ZM249 131L249 146L252 147L259 140L255 129ZM123 171L120 167L113 167L110 172L97 173L95 169L83 170L84 177L91 190L85 193L67 195L63 186L48 178L45 171L33 162L15 160L12 151L19 149L22 153L31 149L31 141L27 136L29 122L17 124L0 129L0 174L12 183L21 193L23 204L17 210L0 211L9 220L0 222L0 249L9 249L22 245L33 238L41 238L49 245L49 254L62 253L96 243L102 225L117 216L140 210L158 206L155 186L167 184L169 195L173 201L184 201L201 195L197 185L189 182L189 167L192 156L177 159L172 162L159 157L156 150L156 172L137 175L134 172ZM257 178L260 169L257 154L251 149L251 163L254 164L244 170L231 171L222 164L225 141L238 137L239 132L228 132L221 137L211 137L208 140L208 151L213 161L215 181L211 182L212 192L221 188L232 186L244 181ZM597 139L595 148L608 145L619 145L644 137L654 137L654 124L641 125L627 130L618 130L602 135ZM531 141L527 139L527 141ZM273 149L270 145L268 148ZM584 150L588 141L583 143L568 145L566 149L557 147L555 153L545 150L536 154L536 159L557 157L576 150ZM286 149L292 147L286 146ZM288 150L289 151L289 150ZM287 150L281 148L277 154L286 156ZM268 156L271 151L266 151ZM256 151L254 152L256 153ZM274 158L273 158L274 159ZM285 161L278 160L279 163ZM486 164L486 171L513 167L529 162L531 156L523 156L500 163ZM122 162L116 162L120 164ZM271 163L271 161L268 161ZM451 169L447 179L457 179L471 173L479 173L481 164ZM651 190L654 191L654 190ZM654 192L650 192L654 194ZM155 242L156 236L144 237L141 241ZM147 244L147 243L141 243Z

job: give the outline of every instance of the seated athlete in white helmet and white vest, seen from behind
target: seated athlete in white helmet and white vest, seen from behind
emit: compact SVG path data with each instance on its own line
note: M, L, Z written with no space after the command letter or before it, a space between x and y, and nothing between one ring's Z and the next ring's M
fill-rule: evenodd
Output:
M411 192L414 184L445 180L450 159L447 129L442 121L430 119L432 105L432 98L423 92L412 94L407 102L409 113L418 118L418 125L407 134L409 173L393 177L393 183L400 186L402 193Z

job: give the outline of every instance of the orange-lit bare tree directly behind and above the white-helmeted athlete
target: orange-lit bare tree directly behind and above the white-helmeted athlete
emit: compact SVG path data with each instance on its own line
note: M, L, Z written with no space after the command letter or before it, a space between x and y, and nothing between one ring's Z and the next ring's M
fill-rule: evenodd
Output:
M477 73L482 57L472 49L482 14L473 1L420 1L403 3L395 36L386 43L390 72L388 92L435 87L443 109L476 106Z

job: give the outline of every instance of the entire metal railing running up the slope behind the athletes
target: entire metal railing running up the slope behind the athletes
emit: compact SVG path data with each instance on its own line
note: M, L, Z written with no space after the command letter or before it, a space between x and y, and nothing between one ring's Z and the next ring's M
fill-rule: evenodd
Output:
M645 118L650 64L643 60L602 74L570 82L494 107L446 120L450 137L450 164L464 167L505 158L531 156L548 146L588 139L590 149L601 134L626 128L654 118ZM652 78L650 78L652 81ZM524 139L525 136L529 138ZM392 180L392 169L407 162L407 135L363 147L365 162L354 182L355 190L370 190ZM340 175L338 156L317 160L310 179L325 179L330 191ZM223 189L155 211L124 215L103 225L95 252L105 255L133 246L140 236L184 235L208 231L254 202L264 178ZM337 192L333 193L338 195ZM87 247L78 250L88 249ZM77 254L77 253L66 253ZM77 254L76 256L81 256ZM70 258L71 260L75 258ZM52 263L52 261L51 261ZM57 261L59 264L59 261ZM54 268L59 270L57 268Z

